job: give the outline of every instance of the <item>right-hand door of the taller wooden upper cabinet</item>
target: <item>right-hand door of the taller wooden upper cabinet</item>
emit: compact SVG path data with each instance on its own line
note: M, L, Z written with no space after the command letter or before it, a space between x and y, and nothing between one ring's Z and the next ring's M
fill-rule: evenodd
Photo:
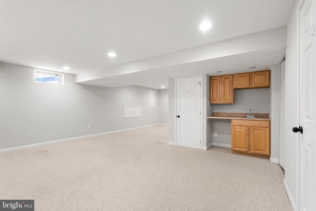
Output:
M221 103L234 103L233 75L221 76Z

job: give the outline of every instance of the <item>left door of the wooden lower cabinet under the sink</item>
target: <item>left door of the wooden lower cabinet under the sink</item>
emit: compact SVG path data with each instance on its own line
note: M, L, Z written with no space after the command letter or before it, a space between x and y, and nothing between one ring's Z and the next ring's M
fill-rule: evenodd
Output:
M232 126L232 150L240 152L249 151L249 128L245 126Z

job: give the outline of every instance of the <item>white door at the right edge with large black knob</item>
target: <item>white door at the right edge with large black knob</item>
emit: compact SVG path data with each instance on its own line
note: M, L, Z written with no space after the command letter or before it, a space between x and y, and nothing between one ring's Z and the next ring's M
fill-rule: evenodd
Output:
M316 211L315 2L300 8L300 211Z

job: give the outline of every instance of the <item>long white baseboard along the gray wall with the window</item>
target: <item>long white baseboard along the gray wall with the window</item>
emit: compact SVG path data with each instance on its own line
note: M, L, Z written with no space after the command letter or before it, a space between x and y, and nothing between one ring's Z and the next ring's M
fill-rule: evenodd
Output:
M6 152L12 152L12 151L17 151L17 150L22 150L22 149L29 149L33 147L39 147L39 146L45 146L49 144L56 144L56 143L61 143L61 142L66 142L66 141L73 141L77 139L82 139L82 138L90 138L94 136L99 136L99 135L106 135L106 134L111 134L111 133L116 133L116 132L123 132L123 131L128 131L128 130L133 130L133 129L140 129L144 127L153 127L161 124L156 124L156 125L149 125L149 126L142 126L142 127L132 127L132 128L127 128L127 129L120 129L120 130L115 130L115 131L110 131L110 132L102 132L102 133L97 133L97 134L92 134L92 135L84 135L84 136L79 136L79 137L74 137L74 138L66 138L66 139L61 139L61 140L56 140L56 141L48 141L48 142L42 142L38 144L30 144L30 145L25 145L25 146L19 146L19 147L12 147L12 148L7 148L7 149L1 149L0 153L6 153Z

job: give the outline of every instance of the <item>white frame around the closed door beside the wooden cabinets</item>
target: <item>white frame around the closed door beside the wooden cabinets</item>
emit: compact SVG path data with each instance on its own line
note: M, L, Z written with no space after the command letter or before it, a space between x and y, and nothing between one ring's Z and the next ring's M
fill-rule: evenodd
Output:
M200 82L201 82L201 96L200 96L200 103L201 103L201 107L200 107L200 111L201 111L201 118L200 118L200 138L201 138L201 142L199 145L199 149L202 149L203 147L203 118L204 117L204 112L203 112L203 75L196 75L196 76L189 76L189 77L179 77L179 78L175 78L174 79L174 97L175 97L175 103L174 103L174 119L175 119L175 128L174 128L174 145L178 145L177 143L177 129L178 129L178 125L177 125L177 79L182 79L182 78L191 78L191 77L200 77ZM206 117L205 117L206 118Z

